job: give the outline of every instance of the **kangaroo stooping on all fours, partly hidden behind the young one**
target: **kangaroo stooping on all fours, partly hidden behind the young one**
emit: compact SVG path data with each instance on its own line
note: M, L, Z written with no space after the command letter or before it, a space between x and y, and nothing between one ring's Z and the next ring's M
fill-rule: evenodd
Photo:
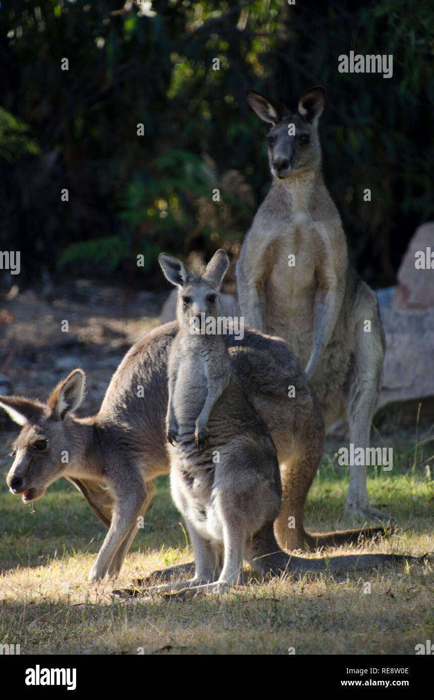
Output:
M0 406L21 426L7 477L11 491L30 502L65 476L109 528L90 580L121 569L137 533L137 517L144 516L151 502L152 479L169 472L167 367L177 331L176 322L159 326L128 351L95 416L74 416L83 396L82 370L57 384L46 402L0 396ZM276 445L283 483L283 506L275 522L280 545L286 549L338 545L357 542L360 534L372 537L382 532L383 528L305 531L304 503L323 454L318 402L283 340L245 328L243 339L229 333L225 341L238 380ZM295 388L292 398L288 398L290 386Z

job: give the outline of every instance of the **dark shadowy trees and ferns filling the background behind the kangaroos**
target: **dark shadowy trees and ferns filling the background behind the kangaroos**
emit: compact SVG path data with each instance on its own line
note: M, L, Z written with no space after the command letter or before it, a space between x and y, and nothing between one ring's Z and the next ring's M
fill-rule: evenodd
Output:
M321 83L351 259L373 286L393 283L434 215L433 27L423 0L2 2L1 249L21 251L20 282L146 272L149 285L161 250L236 251L270 181L245 89L294 107ZM339 73L350 50L392 54L393 78Z

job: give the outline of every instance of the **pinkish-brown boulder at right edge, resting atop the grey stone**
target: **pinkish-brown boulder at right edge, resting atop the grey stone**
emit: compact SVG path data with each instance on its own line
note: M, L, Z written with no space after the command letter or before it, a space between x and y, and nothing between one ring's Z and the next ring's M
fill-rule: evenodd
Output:
M430 265L430 255L433 255L433 267ZM418 266L420 264L420 258L426 269L416 267L416 264ZM393 309L428 309L430 307L434 307L434 222L432 221L419 226L409 242L398 270L398 288L392 302Z

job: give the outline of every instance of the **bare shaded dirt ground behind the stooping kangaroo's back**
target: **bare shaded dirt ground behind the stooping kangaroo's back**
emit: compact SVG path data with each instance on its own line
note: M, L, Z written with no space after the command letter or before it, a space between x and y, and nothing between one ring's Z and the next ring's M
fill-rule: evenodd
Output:
M78 413L97 412L125 353L158 325L165 297L88 279L39 292L11 290L0 300L0 393L45 399L81 367L87 391Z

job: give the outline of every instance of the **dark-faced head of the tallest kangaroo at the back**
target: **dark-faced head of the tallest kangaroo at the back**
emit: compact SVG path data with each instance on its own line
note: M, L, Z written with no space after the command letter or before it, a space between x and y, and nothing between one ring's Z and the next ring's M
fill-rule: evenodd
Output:
M247 90L247 99L257 115L273 125L267 139L271 174L275 178L297 177L320 166L317 127L325 104L324 87L316 85L304 92L295 113L254 90Z

